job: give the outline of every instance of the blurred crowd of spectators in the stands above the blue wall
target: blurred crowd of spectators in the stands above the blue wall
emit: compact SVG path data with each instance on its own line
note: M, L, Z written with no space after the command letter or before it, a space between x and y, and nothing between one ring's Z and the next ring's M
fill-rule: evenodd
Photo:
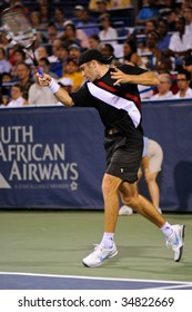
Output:
M192 99L192 1L138 1L134 25L124 22L133 8L131 0L1 1L17 3L38 31L36 57L44 72L61 87L75 91L83 84L78 58L85 49L113 55L112 65L129 64L156 72L155 88L139 86L143 103L148 100ZM70 2L70 1L69 1ZM74 2L74 4L72 4ZM62 6L60 6L60 3ZM112 11L124 9L123 19ZM70 18L67 12L70 10ZM0 33L0 107L58 105L48 88L36 81L32 61Z

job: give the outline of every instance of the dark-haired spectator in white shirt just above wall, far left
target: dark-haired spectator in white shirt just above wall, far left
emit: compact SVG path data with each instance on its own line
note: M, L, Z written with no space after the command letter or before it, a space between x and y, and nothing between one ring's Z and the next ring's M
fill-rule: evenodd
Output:
M27 99L23 97L23 86L19 82L13 84L11 87L11 97L8 101L7 107L23 107L28 104Z

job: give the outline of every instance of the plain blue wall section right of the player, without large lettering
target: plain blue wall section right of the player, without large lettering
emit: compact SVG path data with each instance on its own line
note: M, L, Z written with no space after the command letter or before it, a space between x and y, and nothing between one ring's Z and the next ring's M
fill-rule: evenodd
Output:
M143 128L164 154L159 181L162 209L192 212L192 99L144 104Z

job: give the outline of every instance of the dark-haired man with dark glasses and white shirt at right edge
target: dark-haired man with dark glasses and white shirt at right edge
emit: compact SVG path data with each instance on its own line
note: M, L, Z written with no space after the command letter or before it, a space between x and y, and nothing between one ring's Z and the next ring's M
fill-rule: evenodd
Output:
M174 96L175 99L192 98L192 89L190 88L191 74L186 69L180 69L178 72L179 92Z

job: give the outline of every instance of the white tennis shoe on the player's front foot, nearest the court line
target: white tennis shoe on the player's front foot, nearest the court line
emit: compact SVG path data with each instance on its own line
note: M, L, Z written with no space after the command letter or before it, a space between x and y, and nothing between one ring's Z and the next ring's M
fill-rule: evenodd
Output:
M82 260L82 263L89 267L100 266L107 259L113 257L117 254L118 250L114 242L111 248L105 248L103 244L99 244L92 253Z

